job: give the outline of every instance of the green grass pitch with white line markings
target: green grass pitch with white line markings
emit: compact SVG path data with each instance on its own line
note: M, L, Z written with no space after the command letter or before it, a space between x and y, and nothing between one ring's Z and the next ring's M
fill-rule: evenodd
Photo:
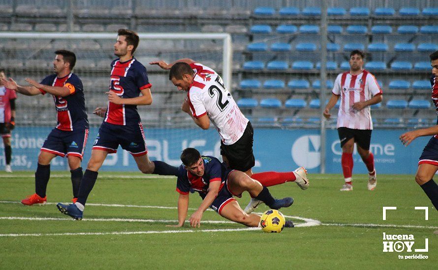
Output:
M309 179L308 190L294 183L270 190L276 197L294 198L291 207L281 209L284 215L315 219L321 225L267 234L214 222L226 220L213 211L204 214L201 228L187 223L166 227L177 219L174 178L101 172L84 219L75 221L55 206L72 197L68 172L52 172L48 203L41 206L17 203L34 192L33 172L0 173L0 269L436 268L438 212L412 175L377 175L374 191L367 190L365 175L354 175L351 192L339 191L341 175L309 174ZM245 207L248 194L238 201ZM188 215L200 202L197 194L190 194ZM397 210L387 211L382 220L383 206ZM415 206L428 206L429 220ZM262 205L257 212L265 210ZM413 248L424 248L428 239L429 250L382 252L383 233L411 234ZM428 259L399 259L415 254Z

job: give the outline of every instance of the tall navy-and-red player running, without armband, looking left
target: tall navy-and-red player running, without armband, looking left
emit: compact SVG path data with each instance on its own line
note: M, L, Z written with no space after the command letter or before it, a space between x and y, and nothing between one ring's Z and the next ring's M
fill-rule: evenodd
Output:
M177 167L159 161L151 162L148 157L137 106L152 104L152 84L149 83L146 68L133 57L138 43L137 33L119 29L114 44L114 54L119 58L111 63L111 84L109 92L106 92L108 107L82 178L78 200L68 206L57 204L63 214L75 219L82 219L85 203L97 179L97 171L109 153L117 152L119 145L132 155L143 173L175 176L178 173ZM96 108L94 112L101 115L102 110Z

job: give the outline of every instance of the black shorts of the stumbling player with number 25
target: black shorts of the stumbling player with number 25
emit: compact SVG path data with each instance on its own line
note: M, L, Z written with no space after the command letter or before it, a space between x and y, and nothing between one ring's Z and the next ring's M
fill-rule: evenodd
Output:
M252 125L248 122L245 132L238 141L230 145L220 142L220 155L227 158L230 169L246 172L255 165L252 153L253 136Z

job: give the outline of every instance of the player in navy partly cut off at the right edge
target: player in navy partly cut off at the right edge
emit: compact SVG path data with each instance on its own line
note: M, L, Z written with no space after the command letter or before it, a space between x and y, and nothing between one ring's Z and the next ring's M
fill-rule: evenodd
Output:
M432 101L438 111L438 51L429 55L432 65ZM438 210L438 186L433 177L438 170L438 120L437 125L414 131L409 131L400 136L402 143L407 146L415 138L421 136L433 135L428 144L424 147L418 162L418 170L415 175L415 181L423 189L424 193L429 197ZM438 231L436 232L438 233Z

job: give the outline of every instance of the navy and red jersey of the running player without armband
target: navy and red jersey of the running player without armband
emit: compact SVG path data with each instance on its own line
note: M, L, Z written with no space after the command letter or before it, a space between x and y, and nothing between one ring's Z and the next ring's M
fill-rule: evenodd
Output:
M116 59L111 63L110 91L122 98L136 98L143 89L152 86L146 68L132 58L126 62ZM138 125L140 115L136 105L114 104L108 101L105 122L115 125Z

